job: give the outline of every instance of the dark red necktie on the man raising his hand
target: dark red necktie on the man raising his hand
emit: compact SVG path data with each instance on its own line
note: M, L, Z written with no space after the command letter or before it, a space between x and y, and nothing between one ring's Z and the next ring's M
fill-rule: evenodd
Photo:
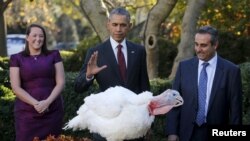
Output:
M120 69L120 75L122 77L123 82L126 81L126 62L124 55L122 53L122 45L118 45L118 52L117 52L117 59L118 59L118 64L119 64L119 69Z

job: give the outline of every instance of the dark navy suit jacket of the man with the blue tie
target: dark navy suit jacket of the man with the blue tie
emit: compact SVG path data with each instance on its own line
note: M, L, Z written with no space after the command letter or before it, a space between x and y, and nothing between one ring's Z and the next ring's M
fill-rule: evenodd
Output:
M197 57L179 64L173 89L178 90L184 104L167 114L166 132L176 134L180 141L192 135L198 111ZM218 56L207 112L208 125L236 125L242 122L242 86L240 69Z

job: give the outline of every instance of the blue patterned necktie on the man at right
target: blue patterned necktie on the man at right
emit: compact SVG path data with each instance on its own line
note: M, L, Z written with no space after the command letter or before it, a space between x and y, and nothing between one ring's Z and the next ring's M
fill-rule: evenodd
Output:
M198 93L198 99L199 99L199 109L196 117L196 123L200 126L203 123L205 123L205 105L206 105L206 93L207 93L207 72L206 67L209 65L209 63L203 63L203 68L200 73L200 79L199 79L199 93Z

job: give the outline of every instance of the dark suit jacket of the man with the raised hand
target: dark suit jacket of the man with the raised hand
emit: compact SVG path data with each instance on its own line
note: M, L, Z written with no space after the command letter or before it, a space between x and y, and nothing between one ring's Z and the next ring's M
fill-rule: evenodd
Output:
M87 52L85 62L75 81L75 91L83 92L92 85L92 81L86 80L87 63L94 51L98 51L97 65L107 65L107 68L94 76L101 91L109 87L123 86L135 93L149 90L149 78L147 73L146 51L141 45L126 41L127 45L127 81L123 83L119 73L119 66L115 58L110 40L90 48Z

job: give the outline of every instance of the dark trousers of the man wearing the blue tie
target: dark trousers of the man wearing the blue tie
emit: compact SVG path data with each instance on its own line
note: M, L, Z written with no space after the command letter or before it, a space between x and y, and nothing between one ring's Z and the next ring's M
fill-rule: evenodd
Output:
M190 141L208 141L207 125L198 126L195 124Z

